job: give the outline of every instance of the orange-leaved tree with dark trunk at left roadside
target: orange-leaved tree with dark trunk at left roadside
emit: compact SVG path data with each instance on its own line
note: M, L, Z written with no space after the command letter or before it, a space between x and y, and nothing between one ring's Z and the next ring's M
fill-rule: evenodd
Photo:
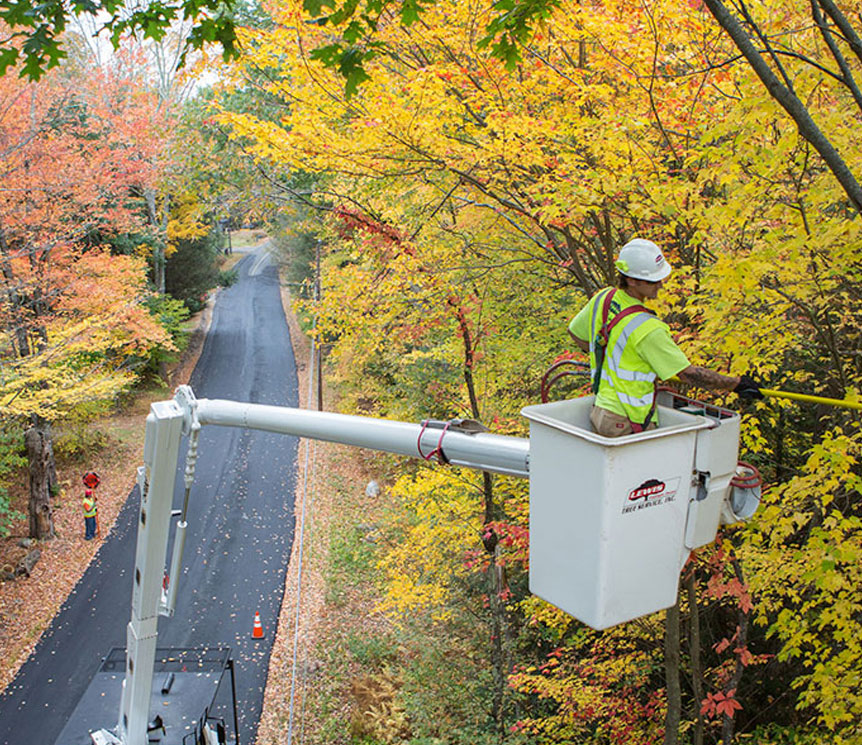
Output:
M0 410L28 427L38 538L53 534L50 422L110 399L133 379L130 363L171 345L142 305L143 262L101 248L139 224L129 191L136 164L80 82L0 78Z

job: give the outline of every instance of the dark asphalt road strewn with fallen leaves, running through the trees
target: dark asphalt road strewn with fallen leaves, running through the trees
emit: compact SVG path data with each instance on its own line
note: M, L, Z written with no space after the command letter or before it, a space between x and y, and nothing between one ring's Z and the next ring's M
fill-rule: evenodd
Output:
M239 281L218 295L190 384L197 398L296 406L296 365L265 247L245 257L238 270ZM201 430L176 613L159 621L159 647L232 648L243 745L253 742L257 730L293 541L297 442L225 427ZM177 509L185 443L182 455ZM125 646L139 503L135 488L90 567L0 695L0 743L54 743L102 658ZM173 536L169 552L172 545ZM251 638L256 611L266 632L262 640ZM116 718L103 726L115 725Z

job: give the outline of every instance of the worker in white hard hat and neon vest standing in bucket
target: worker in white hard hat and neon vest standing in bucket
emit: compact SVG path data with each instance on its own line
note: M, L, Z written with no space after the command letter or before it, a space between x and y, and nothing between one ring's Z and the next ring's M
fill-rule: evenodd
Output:
M658 426L655 381L674 375L692 386L763 398L748 375L722 375L692 365L667 324L641 303L658 295L671 273L661 249L635 238L616 261L618 287L597 292L569 324L575 343L590 355L596 400L590 421L605 437L619 437Z

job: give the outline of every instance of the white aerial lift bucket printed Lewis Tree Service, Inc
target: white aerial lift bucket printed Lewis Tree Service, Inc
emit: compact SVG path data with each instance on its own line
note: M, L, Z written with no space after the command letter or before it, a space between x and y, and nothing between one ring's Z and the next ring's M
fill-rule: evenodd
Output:
M676 602L689 551L715 539L739 416L661 394L657 429L609 438L593 431L592 404L587 396L521 412L530 420L530 591L604 629Z

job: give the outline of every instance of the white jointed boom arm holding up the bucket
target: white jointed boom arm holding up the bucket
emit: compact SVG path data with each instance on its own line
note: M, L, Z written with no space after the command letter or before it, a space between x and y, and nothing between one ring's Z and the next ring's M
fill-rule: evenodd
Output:
M410 424L386 419L306 411L234 401L198 401L189 386L180 386L172 401L154 403L147 417L144 466L138 469L141 509L135 556L132 615L126 632L126 677L117 732L126 745L147 745L162 576L170 530L174 480L181 435L216 424L338 442L398 455L436 454L451 465L526 478L530 443L526 438L469 433L458 423ZM191 475L186 474L186 487ZM172 557L179 567L182 541ZM172 585L176 584L172 577ZM171 587L172 592L175 588ZM171 605L170 601L168 603Z

